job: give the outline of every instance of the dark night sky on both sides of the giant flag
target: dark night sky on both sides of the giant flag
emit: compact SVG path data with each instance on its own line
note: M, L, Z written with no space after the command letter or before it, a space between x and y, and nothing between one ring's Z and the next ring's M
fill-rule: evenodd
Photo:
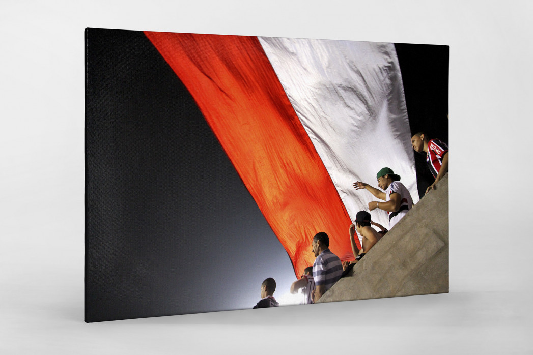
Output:
M142 32L86 40L85 320L252 308L266 277L282 299L288 255L181 81ZM411 131L447 142L448 47L413 46Z

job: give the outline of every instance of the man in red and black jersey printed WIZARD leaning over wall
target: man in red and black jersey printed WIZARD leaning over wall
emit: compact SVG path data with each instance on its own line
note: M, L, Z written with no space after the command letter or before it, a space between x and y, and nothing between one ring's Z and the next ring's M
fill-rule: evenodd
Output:
M411 138L413 149L417 153L426 153L426 164L435 178L433 184L426 189L426 194L435 189L435 184L448 172L448 145L440 139L428 140L424 132L418 132Z

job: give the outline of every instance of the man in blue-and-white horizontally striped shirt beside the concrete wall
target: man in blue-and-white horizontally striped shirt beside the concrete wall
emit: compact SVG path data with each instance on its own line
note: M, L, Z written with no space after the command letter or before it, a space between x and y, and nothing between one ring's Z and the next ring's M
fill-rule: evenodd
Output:
M314 256L313 279L316 284L313 302L316 303L342 275L342 262L334 253L329 251L329 237L320 232L313 237L311 243Z

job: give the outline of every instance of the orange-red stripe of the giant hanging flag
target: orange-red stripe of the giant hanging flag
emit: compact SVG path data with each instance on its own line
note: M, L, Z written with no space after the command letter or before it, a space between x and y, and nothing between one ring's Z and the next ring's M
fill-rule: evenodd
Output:
M345 258L350 217L259 40L144 33L195 99L296 276L313 265L311 238L318 232Z

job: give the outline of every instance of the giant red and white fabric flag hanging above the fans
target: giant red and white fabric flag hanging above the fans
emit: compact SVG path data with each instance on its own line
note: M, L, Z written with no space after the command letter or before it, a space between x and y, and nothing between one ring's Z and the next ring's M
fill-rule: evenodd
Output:
M416 171L391 43L144 32L188 88L297 276L311 238L353 260L348 227L390 167L414 201ZM386 213L373 220L388 226ZM357 241L360 247L360 241Z

